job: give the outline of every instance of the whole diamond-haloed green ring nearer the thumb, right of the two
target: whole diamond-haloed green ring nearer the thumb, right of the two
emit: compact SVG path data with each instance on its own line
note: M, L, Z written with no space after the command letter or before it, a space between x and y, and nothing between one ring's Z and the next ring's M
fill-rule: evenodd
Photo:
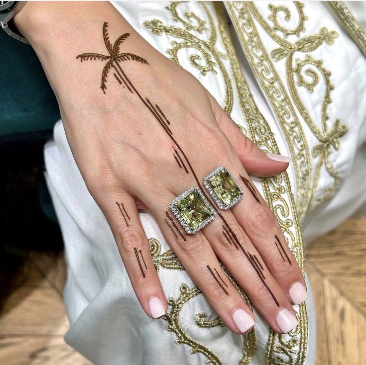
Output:
M243 198L242 188L225 167L206 175L203 184L221 209L228 210Z

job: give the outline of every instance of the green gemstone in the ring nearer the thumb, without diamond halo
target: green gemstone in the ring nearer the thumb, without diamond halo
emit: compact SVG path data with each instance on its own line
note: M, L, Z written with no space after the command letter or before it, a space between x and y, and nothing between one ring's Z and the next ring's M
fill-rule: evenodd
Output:
M229 205L241 196L241 191L227 170L221 170L208 180L223 205Z

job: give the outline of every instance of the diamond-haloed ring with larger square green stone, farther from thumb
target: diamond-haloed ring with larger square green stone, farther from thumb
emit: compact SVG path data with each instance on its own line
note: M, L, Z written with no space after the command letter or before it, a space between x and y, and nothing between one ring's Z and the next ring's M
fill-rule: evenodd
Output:
M200 188L193 186L175 197L169 208L188 234L195 234L214 220L216 211Z

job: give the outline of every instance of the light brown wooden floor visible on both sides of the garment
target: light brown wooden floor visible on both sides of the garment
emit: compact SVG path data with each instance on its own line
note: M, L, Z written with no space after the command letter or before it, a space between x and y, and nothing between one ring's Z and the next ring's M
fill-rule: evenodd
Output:
M365 236L366 218L350 219L306 250L318 316L317 365L366 365ZM64 281L62 255L6 257L0 276L0 364L91 364L63 340Z

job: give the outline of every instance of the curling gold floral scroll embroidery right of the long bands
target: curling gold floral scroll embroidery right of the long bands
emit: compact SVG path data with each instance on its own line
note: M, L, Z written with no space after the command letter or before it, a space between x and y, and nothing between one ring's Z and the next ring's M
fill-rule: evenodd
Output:
M285 59L285 72L286 72L286 81L287 86L290 91L290 95L292 100L299 111L302 118L305 120L307 125L310 127L313 134L319 140L319 143L315 145L312 149L312 157L317 159L317 165L315 168L314 177L311 176L309 173L309 178L312 178L312 182L309 185L308 192L308 204L307 208L303 209L302 202L298 202L298 210L301 218L306 212L310 212L315 206L321 204L322 202L331 199L334 196L336 191L336 186L340 182L340 175L338 171L335 170L333 164L331 163L330 156L333 151L337 150L339 147L340 138L346 134L348 127L344 124L341 124L339 119L336 119L332 126L329 120L329 116L327 114L327 107L331 102L330 92L333 90L334 86L330 82L330 72L326 70L322 66L321 60L314 60L310 54L306 55L304 59L296 59L294 65L294 54L295 52L312 52L322 44L332 45L334 43L335 38L338 37L337 32L329 31L326 27L322 27L317 34L309 34L305 35L300 38L300 30L305 30L304 22L307 17L304 15L303 7L304 4L299 1L294 1L296 9L298 11L299 16L299 25L296 28L298 31L295 32L293 29L290 29L286 32L285 27L281 27L281 31L284 31L284 37L287 34L296 34L299 38L296 42L291 43L284 38L281 38L277 33L276 30L278 29L278 20L277 20L277 12L274 12L275 8L280 6L281 10L286 8L285 6L278 5L273 6L269 5L269 8L272 10L271 15L269 16L269 20L273 22L273 27L271 27L265 19L261 16L259 11L256 9L254 3L248 2L247 7L248 11L253 15L253 17L259 22L261 27L266 31L266 33L279 44L280 47L275 48L271 51L271 58L277 62L281 59ZM287 8L286 8L287 9ZM285 12L288 15L290 12L287 9ZM300 27L301 25L301 27ZM299 28L300 27L300 28ZM258 44L260 42L258 36ZM266 54L266 51L263 48L263 53L267 57L267 62L270 63L270 59ZM305 82L304 77L301 75L301 70L306 66L312 65L313 68L306 68L305 75L310 77L310 82ZM273 65L271 65L272 69L274 70ZM321 113L320 113L320 120L321 120L321 128L317 126L317 124L312 120L310 117L309 112L305 108L301 97L297 91L295 77L297 77L297 85L299 87L304 86L309 93L311 93L316 85L319 83L319 76L314 71L318 69L319 75L322 76L324 84L325 84L325 93L322 101L321 106ZM278 83L281 83L278 75L273 73L274 76L277 77ZM270 99L270 98L269 98ZM272 100L270 99L272 102ZM288 103L291 103L290 99L288 99ZM276 108L275 104L272 104L274 108ZM297 120L296 123L299 123ZM294 156L292 156L294 158ZM317 196L317 187L319 181L319 175L322 167L325 167L327 173L333 178L333 183L326 187L319 196ZM297 180L299 180L298 172L296 171Z

